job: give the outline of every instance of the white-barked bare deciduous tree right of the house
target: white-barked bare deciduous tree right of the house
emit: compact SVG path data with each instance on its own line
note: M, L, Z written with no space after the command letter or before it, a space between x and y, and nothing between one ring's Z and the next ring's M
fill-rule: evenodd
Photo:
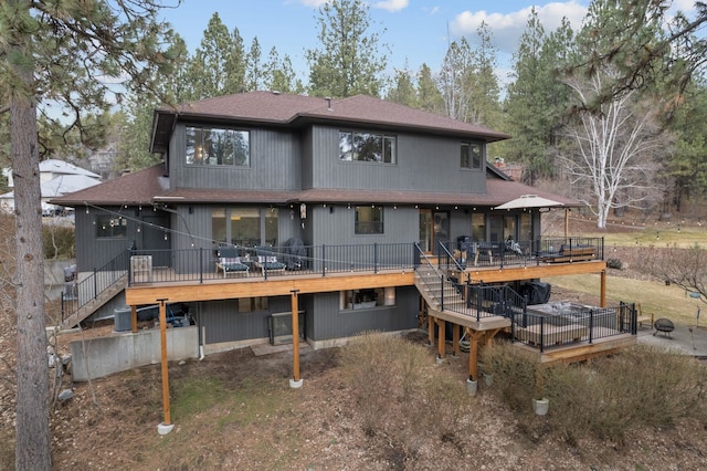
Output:
M578 123L569 126L576 153L562 158L579 200L597 216L597 226L606 227L612 209L640 207L656 195L656 153L667 154L669 143L657 125L657 105L627 91L590 109L612 72L594 72L589 78L572 77L568 86L579 102ZM581 195L583 189L588 193Z

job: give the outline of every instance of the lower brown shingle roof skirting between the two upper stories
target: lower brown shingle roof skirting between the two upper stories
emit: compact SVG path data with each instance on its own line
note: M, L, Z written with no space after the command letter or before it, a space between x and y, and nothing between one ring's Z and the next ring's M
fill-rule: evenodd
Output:
M492 169L493 170L493 169ZM495 176L486 178L486 193L418 192L318 188L308 190L229 190L173 189L169 190L162 165L128 174L115 180L51 200L61 206L118 206L150 205L152 202L188 203L376 203L376 205L460 205L498 206L523 195L538 195L566 206L578 206L576 200L559 197L535 187L507 181ZM490 172L489 175L493 175Z

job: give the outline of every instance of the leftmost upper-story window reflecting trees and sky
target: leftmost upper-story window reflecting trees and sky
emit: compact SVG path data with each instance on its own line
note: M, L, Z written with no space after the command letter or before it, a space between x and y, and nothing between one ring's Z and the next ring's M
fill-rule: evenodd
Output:
M250 133L238 129L187 126L187 164L251 165Z

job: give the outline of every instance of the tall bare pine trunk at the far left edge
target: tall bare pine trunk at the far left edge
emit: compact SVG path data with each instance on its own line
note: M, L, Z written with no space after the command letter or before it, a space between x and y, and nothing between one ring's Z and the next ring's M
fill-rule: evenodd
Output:
M29 39L28 39L29 41ZM21 53L25 53L19 46ZM49 362L36 105L31 67L14 67L23 87L10 93L14 180L18 318L15 469L51 470ZM20 87L18 87L20 88Z

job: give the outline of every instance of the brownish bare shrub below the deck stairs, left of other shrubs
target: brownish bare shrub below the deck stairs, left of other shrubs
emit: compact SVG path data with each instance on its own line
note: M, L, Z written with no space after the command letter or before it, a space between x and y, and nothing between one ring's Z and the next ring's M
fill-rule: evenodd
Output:
M472 427L478 411L458 376L432 358L422 345L380 333L366 333L341 348L351 409L369 439L386 443L381 449L391 462L414 460L440 440L462 459L460 431Z

